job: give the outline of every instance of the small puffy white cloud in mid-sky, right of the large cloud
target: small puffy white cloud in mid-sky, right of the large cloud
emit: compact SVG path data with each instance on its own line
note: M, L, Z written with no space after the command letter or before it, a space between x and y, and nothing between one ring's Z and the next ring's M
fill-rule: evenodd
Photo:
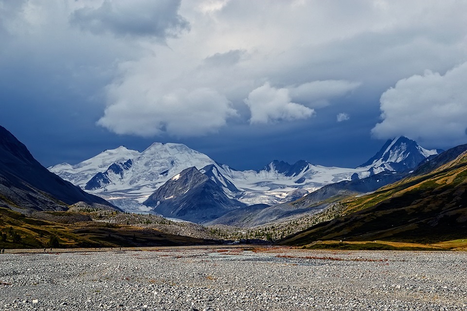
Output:
M274 88L269 83L254 90L245 99L250 107L250 123L291 121L311 117L315 111L301 104L291 103L287 88Z

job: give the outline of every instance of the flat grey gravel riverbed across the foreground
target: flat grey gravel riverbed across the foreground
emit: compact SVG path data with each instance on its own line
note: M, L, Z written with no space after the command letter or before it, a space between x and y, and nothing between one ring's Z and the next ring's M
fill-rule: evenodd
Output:
M467 311L466 269L465 252L199 246L6 253L0 310Z

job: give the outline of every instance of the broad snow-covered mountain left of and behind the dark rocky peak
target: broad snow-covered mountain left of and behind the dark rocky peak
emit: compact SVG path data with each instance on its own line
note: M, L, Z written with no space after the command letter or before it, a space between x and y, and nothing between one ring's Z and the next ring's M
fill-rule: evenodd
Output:
M50 167L82 189L129 211L147 211L143 203L154 190L188 167L215 164L209 156L183 144L153 143L143 152L120 146L77 165Z

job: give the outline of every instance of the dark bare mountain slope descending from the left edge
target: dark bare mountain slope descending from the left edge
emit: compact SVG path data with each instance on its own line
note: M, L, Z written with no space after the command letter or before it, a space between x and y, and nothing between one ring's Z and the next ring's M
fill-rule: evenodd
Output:
M64 210L86 202L113 207L49 172L26 146L0 126L0 204L37 210Z

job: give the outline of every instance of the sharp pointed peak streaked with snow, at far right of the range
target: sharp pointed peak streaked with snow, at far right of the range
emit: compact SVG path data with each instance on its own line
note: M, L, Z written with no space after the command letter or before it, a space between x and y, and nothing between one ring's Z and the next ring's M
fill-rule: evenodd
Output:
M386 141L381 150L359 168L368 168L370 173L384 171L404 172L413 169L431 155L438 155L442 150L427 150L414 140L398 137Z

